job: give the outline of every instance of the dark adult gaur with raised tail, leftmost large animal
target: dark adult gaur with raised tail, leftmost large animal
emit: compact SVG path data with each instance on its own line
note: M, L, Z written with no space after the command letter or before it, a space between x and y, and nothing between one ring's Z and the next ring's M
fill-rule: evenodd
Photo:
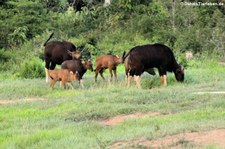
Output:
M81 52L76 50L74 44L68 41L51 41L48 42L53 36L50 35L48 40L44 43L44 58L45 58L45 74L46 82L48 82L48 70L55 69L56 64L61 65L65 60L72 58L80 58Z

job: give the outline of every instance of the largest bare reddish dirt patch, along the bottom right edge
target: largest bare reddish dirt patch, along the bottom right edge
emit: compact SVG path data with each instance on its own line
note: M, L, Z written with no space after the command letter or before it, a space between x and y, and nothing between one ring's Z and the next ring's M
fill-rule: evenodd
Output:
M172 136L166 136L156 140L147 140L145 138L129 141L118 141L108 146L109 149L122 148L194 148L207 145L216 145L225 148L225 129L210 130L204 132L181 133Z

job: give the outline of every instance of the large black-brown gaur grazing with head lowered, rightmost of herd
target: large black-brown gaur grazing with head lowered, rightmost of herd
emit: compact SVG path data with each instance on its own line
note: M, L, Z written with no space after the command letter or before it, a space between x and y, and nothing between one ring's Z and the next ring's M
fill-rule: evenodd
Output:
M184 81L183 66L177 63L172 50L165 45L136 46L128 54L124 52L122 58L123 62L125 61L125 69L129 76L128 85L130 84L130 76L134 76L136 85L140 87L141 74L144 71L150 73L154 67L158 68L161 85L167 85L167 71L174 72L177 81Z

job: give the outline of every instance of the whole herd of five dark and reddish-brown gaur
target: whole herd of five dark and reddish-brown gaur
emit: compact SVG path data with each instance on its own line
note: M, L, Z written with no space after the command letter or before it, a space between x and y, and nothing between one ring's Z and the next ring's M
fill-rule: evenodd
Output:
M141 87L141 75L148 72L155 75L157 68L160 76L160 84L167 85L167 72L174 72L177 81L184 81L184 67L177 63L172 50L163 44L148 44L132 48L122 57L112 54L101 55L96 59L95 69L91 60L81 60L82 51L76 49L75 45L68 41L50 41L53 33L44 43L45 73L46 82L51 79L50 87L54 88L57 81L61 82L61 87L65 89L69 82L73 89L73 82L79 81L83 87L83 75L87 70L95 71L95 81L98 74L105 80L103 72L109 69L111 79L117 78L116 68L124 63L127 85L134 78L137 87ZM61 69L55 69L56 65L61 65Z

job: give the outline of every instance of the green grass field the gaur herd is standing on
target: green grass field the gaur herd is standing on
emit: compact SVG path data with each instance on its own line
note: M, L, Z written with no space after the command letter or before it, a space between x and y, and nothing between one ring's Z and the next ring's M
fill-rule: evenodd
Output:
M75 90L61 90L59 84L51 90L45 79L10 76L0 75L0 100L46 100L0 105L0 148L107 148L121 140L225 128L225 94L198 94L225 91L225 66L213 60L189 62L185 82L178 83L169 74L167 87L160 87L158 76L144 74L142 89L126 87L122 66L117 82L109 84L99 77L95 83L94 74L88 73L85 88L76 82ZM161 115L114 126L99 123L120 114L146 112ZM186 143L182 148L200 147Z

